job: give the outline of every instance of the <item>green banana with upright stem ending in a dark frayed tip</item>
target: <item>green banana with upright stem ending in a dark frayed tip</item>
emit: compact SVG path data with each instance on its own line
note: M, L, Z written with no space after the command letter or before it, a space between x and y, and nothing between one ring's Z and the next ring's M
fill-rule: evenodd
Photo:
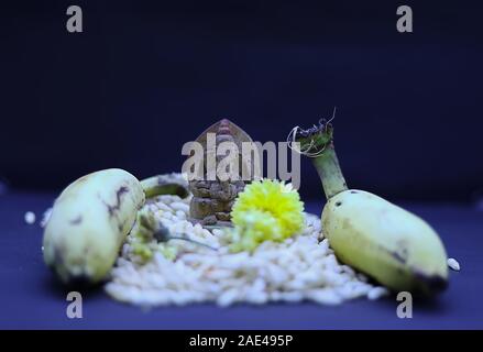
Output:
M438 234L414 213L371 193L348 189L332 132L322 120L296 131L294 141L312 157L321 178L327 197L322 229L338 258L395 292L430 296L444 289L447 254Z

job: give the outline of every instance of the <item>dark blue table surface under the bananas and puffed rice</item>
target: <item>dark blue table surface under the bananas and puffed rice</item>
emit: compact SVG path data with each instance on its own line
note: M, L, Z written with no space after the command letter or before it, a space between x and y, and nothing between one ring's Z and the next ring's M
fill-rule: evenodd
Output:
M101 288L83 293L83 318L68 319L67 290L42 261L43 211L54 195L0 195L1 329L483 329L483 211L462 205L404 205L440 233L449 256L461 264L437 299L415 301L411 319L399 319L395 297L356 299L338 307L271 304L213 305L142 310L110 299ZM319 213L322 202L307 209ZM34 211L35 224L24 213Z

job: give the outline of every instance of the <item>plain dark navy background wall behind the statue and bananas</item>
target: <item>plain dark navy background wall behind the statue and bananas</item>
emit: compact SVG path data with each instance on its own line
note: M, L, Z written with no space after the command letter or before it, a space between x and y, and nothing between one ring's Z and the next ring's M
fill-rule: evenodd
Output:
M84 33L65 29L67 6ZM410 4L414 33L396 31ZM0 177L59 190L118 166L177 170L182 145L227 117L284 141L338 107L352 187L389 199L483 190L476 1L1 3ZM319 193L308 161L304 197Z

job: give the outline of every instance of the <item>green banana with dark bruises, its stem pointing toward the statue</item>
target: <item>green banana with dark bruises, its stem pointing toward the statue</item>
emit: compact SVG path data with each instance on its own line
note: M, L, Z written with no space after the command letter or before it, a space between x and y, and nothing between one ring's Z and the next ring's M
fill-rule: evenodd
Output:
M183 185L155 178L139 182L111 168L80 177L63 190L43 238L44 261L63 283L95 284L108 275L146 198L188 195Z

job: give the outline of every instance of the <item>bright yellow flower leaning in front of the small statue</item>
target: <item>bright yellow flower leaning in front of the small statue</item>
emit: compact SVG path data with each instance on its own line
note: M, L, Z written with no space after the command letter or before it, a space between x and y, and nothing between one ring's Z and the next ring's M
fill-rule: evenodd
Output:
M232 222L239 233L233 250L254 250L266 240L283 241L304 227L304 204L290 184L255 180L233 205Z

